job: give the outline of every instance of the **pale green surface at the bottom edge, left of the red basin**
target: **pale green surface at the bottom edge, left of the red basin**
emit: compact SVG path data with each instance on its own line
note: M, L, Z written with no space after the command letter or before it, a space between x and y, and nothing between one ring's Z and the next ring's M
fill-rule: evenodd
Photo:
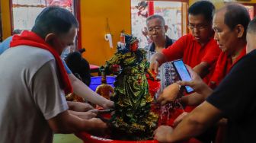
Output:
M83 141L74 134L55 134L53 143L82 143Z

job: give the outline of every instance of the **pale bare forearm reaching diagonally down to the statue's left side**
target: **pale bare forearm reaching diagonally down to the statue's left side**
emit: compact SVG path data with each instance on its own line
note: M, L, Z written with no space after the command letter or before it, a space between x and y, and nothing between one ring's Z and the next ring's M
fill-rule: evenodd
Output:
M71 81L73 91L75 94L78 94L80 97L85 98L85 100L90 101L91 103L100 105L104 108L111 108L114 106L114 103L110 100L107 100L101 95L96 94L94 91L84 84L82 81L78 80L73 74L69 74L69 79Z

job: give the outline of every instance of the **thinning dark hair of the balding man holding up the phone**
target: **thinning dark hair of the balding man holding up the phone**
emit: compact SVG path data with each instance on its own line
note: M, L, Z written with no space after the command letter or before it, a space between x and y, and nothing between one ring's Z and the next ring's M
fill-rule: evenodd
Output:
M243 5L232 3L219 9L219 11L222 10L226 10L226 14L224 15L224 24L226 24L231 30L233 30L238 24L241 24L245 28L245 31L247 30L251 19L247 9Z

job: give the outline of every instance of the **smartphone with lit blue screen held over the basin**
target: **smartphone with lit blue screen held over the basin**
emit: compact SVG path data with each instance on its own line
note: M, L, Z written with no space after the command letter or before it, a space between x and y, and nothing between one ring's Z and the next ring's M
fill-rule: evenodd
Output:
M181 78L182 81L191 81L190 74L186 68L186 65L181 59L178 59L174 62L172 62L172 65L174 65L175 71L177 71L179 78ZM193 88L189 86L185 86L185 91L187 94L190 94L191 92L194 91Z

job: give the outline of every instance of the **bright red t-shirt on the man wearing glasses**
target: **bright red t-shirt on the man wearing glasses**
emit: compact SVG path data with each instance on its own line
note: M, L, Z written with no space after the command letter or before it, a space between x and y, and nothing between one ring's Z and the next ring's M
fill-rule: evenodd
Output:
M191 68L201 62L207 62L210 65L210 73L206 75L204 81L208 84L221 50L213 37L205 46L201 46L192 34L187 34L168 46L167 49L162 49L162 52L168 58L168 61L183 59L184 63L190 65Z

